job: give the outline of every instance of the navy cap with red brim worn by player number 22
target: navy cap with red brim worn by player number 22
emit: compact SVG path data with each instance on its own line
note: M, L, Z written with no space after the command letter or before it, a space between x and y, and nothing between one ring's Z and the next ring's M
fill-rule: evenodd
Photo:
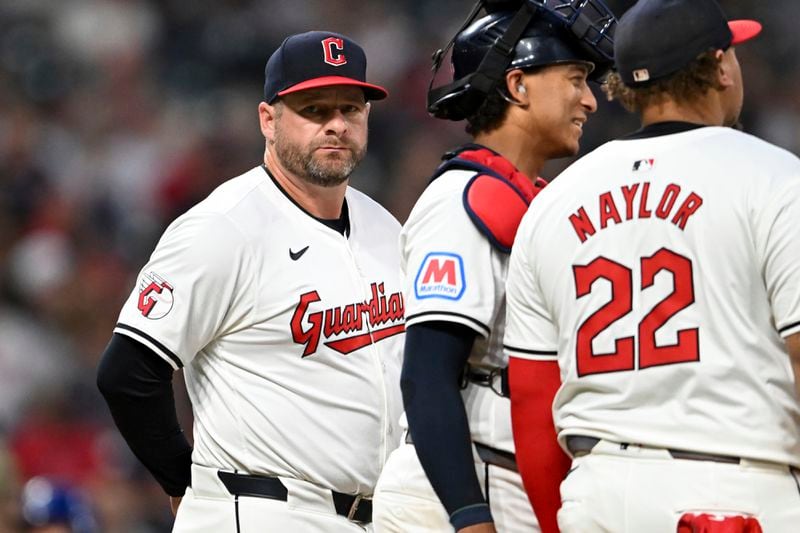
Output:
M617 72L627 85L645 84L760 32L755 20L729 21L716 0L639 0L614 34Z

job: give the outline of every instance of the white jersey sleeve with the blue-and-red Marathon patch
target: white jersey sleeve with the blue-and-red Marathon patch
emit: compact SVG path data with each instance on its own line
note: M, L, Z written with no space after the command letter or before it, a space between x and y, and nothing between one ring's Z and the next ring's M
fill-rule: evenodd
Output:
M403 227L407 326L457 322L489 336L503 303L505 265L464 209L464 187L474 175L453 170L438 177Z

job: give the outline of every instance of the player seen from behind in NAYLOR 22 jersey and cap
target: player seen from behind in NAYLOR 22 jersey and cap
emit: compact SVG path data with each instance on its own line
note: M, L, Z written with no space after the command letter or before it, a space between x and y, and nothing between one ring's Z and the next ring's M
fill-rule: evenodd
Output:
M608 93L642 129L572 165L519 227L514 440L543 493L560 481L545 424L573 458L563 533L800 530L800 160L730 128L736 46L760 30L715 0L640 0Z

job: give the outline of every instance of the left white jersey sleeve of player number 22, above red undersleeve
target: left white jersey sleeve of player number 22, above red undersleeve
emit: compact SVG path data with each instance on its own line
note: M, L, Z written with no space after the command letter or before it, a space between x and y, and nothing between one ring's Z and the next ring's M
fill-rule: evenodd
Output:
M523 217L511 250L503 343L506 352L514 357L556 361L558 331L537 281L536 266L532 264L534 258L528 252L531 233L536 227L532 215L534 210L530 209Z

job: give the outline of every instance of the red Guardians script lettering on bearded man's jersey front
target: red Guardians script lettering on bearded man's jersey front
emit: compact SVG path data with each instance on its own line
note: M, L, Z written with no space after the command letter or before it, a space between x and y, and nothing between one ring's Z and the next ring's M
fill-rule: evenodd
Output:
M402 293L385 295L383 283L372 283L371 289L372 298L365 302L315 312L309 312L309 307L321 300L319 293L302 294L292 315L291 328L294 342L305 346L303 357L316 353L323 337L325 346L346 355L405 331ZM374 329L392 322L400 323ZM310 327L303 329L304 324L310 324ZM347 333L354 335L334 339Z

